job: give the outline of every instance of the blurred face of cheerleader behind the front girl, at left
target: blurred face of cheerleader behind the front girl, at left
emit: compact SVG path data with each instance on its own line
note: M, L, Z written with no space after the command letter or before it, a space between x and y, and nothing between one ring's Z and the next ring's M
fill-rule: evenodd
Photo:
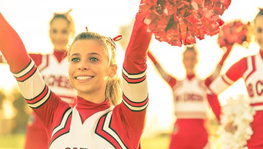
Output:
M55 50L65 50L70 35L70 25L66 19L56 18L50 24L50 38Z

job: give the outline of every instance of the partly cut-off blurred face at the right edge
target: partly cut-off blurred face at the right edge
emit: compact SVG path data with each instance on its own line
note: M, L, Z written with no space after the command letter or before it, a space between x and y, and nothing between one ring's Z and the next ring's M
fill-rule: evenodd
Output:
M260 49L263 50L263 15L255 19L255 37Z

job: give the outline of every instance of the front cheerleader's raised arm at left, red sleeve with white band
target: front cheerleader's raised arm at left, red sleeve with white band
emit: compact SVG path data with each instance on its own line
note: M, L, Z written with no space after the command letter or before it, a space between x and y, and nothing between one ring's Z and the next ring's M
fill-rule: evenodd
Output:
M51 126L54 111L66 104L43 82L34 61L26 52L25 46L0 13L0 50L10 65L26 103L31 107L46 127ZM63 110L63 108L60 108Z

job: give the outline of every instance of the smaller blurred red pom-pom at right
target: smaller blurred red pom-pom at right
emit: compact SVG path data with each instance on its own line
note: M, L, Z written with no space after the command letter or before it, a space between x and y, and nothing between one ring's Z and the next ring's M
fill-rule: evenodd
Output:
M237 43L247 47L251 41L251 30L250 23L243 24L241 21L228 23L218 34L218 44L220 47L227 47Z

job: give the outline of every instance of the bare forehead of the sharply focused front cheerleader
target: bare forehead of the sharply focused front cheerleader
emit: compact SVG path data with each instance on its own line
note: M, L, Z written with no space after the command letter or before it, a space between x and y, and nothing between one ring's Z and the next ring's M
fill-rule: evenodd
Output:
M74 53L98 53L102 56L106 55L103 45L99 41L93 39L75 41L71 47L70 55Z

